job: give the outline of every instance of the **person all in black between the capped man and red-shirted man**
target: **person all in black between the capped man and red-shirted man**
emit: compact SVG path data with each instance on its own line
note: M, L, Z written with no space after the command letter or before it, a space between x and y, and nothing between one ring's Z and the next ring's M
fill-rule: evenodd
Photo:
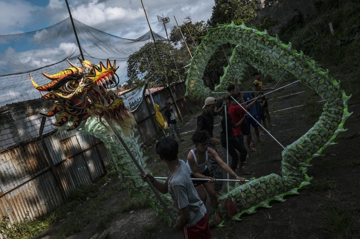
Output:
M221 144L226 149L226 131L227 131L227 146L228 146L227 150L228 150L228 154L231 156L231 164L230 164L231 170L235 171L237 168L237 161L239 159L238 154L236 153L237 150L240 152L240 165L238 168L238 172L242 172L243 174L250 174L249 172L244 171L242 169L242 166L244 165L244 162L246 160L247 150L243 145L241 145L241 143L236 139L236 137L234 137L232 132L233 128L238 128L241 126L246 116L243 117L239 122L234 124L234 122L232 122L231 116L226 112L226 121L225 121L224 103L221 104L221 102L218 102L217 105L218 109L220 110L218 115L218 121L220 124ZM226 128L226 122L227 122L227 128Z

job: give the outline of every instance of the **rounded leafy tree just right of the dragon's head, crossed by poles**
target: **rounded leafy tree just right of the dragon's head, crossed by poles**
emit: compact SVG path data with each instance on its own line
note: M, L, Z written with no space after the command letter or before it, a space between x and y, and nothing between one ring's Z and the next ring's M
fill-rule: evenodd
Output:
M170 84L179 81L178 72L171 55L174 54L175 62L177 63L181 80L185 78L186 70L184 68L185 61L179 54L179 49L170 45L168 42L156 41L156 46L159 49L161 61L166 69L166 75ZM145 44L137 52L130 55L127 61L127 77L129 80L124 84L125 89L134 88L136 85L147 81L150 87L153 86L167 86L164 77L164 70L160 65L159 57L154 45L154 42ZM140 78L141 76L141 78ZM156 83L155 83L156 81Z

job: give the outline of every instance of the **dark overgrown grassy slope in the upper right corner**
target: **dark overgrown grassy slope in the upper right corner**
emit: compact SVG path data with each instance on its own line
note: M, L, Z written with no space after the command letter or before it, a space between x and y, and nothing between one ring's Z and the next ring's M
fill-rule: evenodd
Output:
M317 2L318 15L303 20L294 16L279 35L293 48L303 50L322 68L328 68L335 79L342 82L350 104L360 102L360 2L358 0L329 0ZM330 34L329 21L334 34Z

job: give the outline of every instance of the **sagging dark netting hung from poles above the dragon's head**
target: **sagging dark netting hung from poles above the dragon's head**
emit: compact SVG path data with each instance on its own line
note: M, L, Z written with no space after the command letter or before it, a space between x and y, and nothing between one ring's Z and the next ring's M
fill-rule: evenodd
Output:
M126 39L99 31L74 19L76 32L86 60L94 64L106 59L116 60L120 83L126 78L126 61L144 44L152 41L150 31L137 39ZM154 34L155 40L166 38ZM66 59L80 65L70 18L51 27L23 34L0 35L0 106L38 99L40 93L32 86L29 73L36 82L48 83L42 72L53 74L70 67Z

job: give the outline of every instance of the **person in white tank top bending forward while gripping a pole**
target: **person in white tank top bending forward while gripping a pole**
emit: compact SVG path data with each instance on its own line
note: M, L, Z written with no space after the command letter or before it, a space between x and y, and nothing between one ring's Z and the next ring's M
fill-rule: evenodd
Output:
M235 179L239 180L240 183L244 183L244 179L231 170L214 149L208 148L209 138L211 138L211 136L205 130L197 132L191 137L191 140L195 145L195 149L191 149L188 153L186 165L191 173L191 178L210 178L210 181L193 180L192 183L204 204L206 204L206 193L201 185L205 187L210 196L211 207L213 212L215 212L218 208L218 194L214 190L213 182L215 182L215 179L210 176L210 171L206 166L209 159L213 158L216 160L223 170ZM217 225L222 221L222 218L220 219L219 217L214 217L212 225Z

